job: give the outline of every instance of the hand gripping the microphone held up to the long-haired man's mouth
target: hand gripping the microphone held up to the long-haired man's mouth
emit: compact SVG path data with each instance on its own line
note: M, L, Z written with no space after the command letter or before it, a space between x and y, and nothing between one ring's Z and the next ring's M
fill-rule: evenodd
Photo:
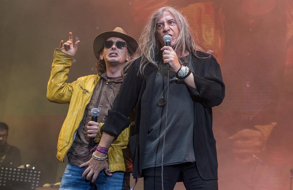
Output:
M170 70L173 73L177 73L181 65L179 63L176 52L173 50L171 46L164 46L161 50L163 51L164 64L169 64Z

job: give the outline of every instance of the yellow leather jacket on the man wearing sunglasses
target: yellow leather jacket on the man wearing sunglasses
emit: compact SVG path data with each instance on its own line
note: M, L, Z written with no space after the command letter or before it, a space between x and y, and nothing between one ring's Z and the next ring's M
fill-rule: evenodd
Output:
M69 104L65 121L62 125L57 143L57 158L64 162L69 151L74 133L84 116L86 105L90 102L93 90L100 80L100 76L88 75L78 78L72 83L66 83L69 67L73 56L55 49L52 70L47 86L47 99L50 102ZM104 123L100 123L100 127ZM126 128L111 144L108 154L109 168L111 172L132 171L132 160L128 145L130 127ZM100 141L101 131L99 130L95 142Z

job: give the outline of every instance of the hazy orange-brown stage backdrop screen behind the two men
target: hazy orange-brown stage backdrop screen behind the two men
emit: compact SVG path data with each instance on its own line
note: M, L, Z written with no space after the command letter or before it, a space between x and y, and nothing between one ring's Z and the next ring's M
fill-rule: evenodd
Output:
M292 0L1 1L0 121L23 164L55 183L68 105L46 100L54 48L73 32L79 50L68 81L94 74L94 37L119 26L138 39L151 11L177 6L222 68L226 97L214 111L219 189L289 189L293 167ZM136 189L143 189L143 180ZM184 189L177 183L175 189Z

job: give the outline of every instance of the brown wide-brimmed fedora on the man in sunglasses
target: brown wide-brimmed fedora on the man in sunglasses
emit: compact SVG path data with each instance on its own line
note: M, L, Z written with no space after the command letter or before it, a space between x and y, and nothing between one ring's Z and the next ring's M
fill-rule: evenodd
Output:
M93 40L93 52L95 53L97 59L99 59L98 51L103 47L103 42L109 37L118 37L125 40L129 45L128 48L130 48L133 52L135 52L138 47L138 43L134 38L128 36L122 28L116 27L113 31L100 33Z

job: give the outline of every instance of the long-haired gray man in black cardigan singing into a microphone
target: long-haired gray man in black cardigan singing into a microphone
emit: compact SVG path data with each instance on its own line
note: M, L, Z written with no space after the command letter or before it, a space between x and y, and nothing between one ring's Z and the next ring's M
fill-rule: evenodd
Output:
M195 44L186 18L172 7L154 11L124 69L99 145L110 146L136 107L129 144L133 176L144 177L144 189L173 189L182 178L186 189L218 189L212 107L223 101L225 85L217 60Z

